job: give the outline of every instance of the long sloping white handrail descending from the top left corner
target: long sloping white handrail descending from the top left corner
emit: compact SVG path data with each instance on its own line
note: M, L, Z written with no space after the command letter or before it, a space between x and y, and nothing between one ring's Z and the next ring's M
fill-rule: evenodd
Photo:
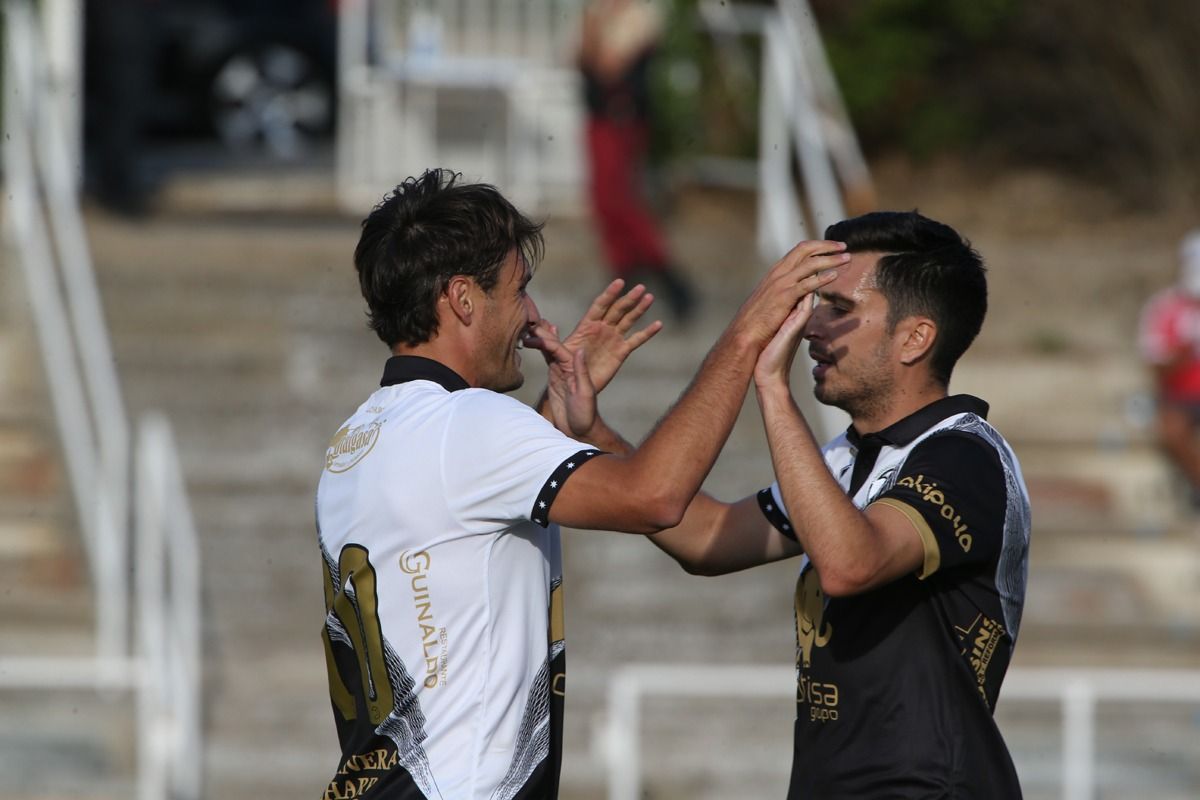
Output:
M61 125L54 116L53 95L46 94L50 79L37 49L41 36L36 18L25 2L10 1L5 12L10 230L23 255L18 260L90 557L97 656L115 658L126 651L128 639L127 540L121 534L127 516L128 423L113 373ZM53 229L42 212L43 192ZM64 267L61 278L58 264ZM60 287L66 287L66 301Z

